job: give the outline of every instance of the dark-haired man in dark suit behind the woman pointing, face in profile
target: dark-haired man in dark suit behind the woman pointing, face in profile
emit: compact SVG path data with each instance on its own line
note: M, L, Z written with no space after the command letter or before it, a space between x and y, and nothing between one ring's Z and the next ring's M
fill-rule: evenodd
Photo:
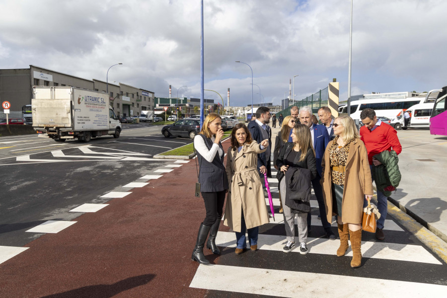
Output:
M270 109L268 107L259 107L256 110L256 120L248 123L248 130L251 138L261 144L263 140L269 140L269 147L265 152L258 154L258 172L261 177L262 187L265 190L264 173L267 177L272 177L272 168L270 164L270 148L272 147L272 130L267 124L270 123Z

